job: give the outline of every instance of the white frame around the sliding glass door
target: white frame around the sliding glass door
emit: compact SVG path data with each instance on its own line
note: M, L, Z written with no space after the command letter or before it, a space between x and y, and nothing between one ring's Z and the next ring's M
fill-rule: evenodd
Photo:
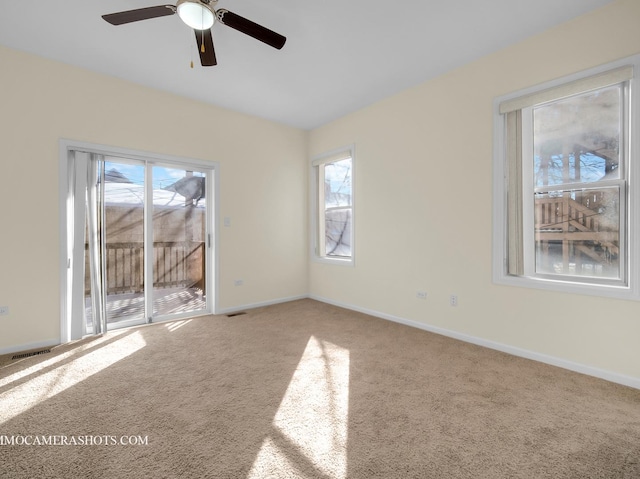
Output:
M70 201L70 155L71 151L81 150L88 153L96 153L105 156L120 156L134 160L142 160L151 164L171 163L177 167L192 166L209 171L212 181L205 183L207 201L207 271L206 271L206 295L207 308L204 313L215 314L218 305L218 218L219 218L219 191L220 191L220 164L217 161L207 161L188 157L178 157L161 153L133 150L95 143L87 143L69 139L59 141L59 216L60 216L60 342L67 343L83 336L82 318L78 318L80 311L78 304L73 304L72 278L79 274L83 267L74 262L74 241L77 235L73 227L75 221L81 220L75 217L73 202ZM83 221L83 220L82 220ZM84 249L84 248L83 248ZM84 262L83 262L84 264ZM173 318L171 318L173 319ZM80 326L79 326L80 325Z

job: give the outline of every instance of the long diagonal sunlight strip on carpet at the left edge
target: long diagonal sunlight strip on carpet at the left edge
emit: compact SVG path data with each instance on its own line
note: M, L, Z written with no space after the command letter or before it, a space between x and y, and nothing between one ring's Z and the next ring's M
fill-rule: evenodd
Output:
M108 339L113 339L113 336L105 337L105 340ZM16 386L0 394L0 424L99 373L142 349L145 345L144 338L137 331L87 354L80 354L79 357L68 362L64 362L64 360L69 359L72 354L77 354L77 351L72 354L65 353L61 357L52 358L33 368L28 368L25 371L29 371L28 374L33 376L31 379L20 383L19 380L13 378L13 381L17 383ZM95 343L92 346L95 346ZM49 366L59 362L62 364L47 370ZM40 373L39 371L46 372ZM26 378L24 372L20 374L21 377ZM5 384L8 383L8 381L5 382Z

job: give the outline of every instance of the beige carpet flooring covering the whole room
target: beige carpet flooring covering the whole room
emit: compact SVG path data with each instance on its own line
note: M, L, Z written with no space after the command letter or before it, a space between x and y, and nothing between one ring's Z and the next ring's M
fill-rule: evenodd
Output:
M640 478L640 391L299 300L0 362L0 477Z

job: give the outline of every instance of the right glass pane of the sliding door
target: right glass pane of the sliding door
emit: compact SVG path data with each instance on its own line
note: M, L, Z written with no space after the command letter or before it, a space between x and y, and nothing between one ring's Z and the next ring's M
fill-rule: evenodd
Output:
M153 167L153 314L206 308L205 174Z

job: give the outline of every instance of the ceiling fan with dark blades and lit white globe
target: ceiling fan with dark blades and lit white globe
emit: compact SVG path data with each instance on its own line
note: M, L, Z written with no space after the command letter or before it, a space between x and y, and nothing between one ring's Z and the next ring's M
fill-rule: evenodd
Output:
M216 52L211 35L211 27L216 20L278 50L287 41L286 37L279 33L236 15L229 10L223 8L215 10L213 6L216 3L218 3L218 0L178 0L176 5L137 8L135 10L102 15L102 18L112 25L123 25L177 13L180 19L193 28L196 34L200 63L203 67L217 65Z

